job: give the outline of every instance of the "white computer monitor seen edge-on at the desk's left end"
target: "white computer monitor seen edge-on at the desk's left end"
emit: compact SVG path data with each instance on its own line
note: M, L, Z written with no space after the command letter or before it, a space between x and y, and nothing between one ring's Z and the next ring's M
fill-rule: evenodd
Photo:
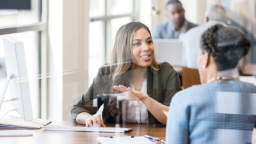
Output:
M12 36L3 36L3 46L7 78L0 97L0 109L6 89L9 88L13 109L24 120L33 120L23 43Z

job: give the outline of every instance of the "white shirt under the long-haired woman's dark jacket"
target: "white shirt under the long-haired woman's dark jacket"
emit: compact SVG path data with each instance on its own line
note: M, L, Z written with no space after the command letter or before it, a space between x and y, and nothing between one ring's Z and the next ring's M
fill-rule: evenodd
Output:
M134 84L130 84L134 90ZM142 84L141 93L147 93L147 79ZM102 118L103 104L93 116L100 116ZM148 110L140 100L128 100L122 105L122 118L127 123L143 123L148 124Z

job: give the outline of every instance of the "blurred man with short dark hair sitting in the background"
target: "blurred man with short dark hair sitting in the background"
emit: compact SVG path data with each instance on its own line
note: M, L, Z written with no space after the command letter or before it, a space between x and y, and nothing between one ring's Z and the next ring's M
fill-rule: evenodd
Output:
M179 38L182 40L186 31L196 27L196 24L185 19L185 10L179 0L170 0L166 3L166 22L157 25L154 38Z

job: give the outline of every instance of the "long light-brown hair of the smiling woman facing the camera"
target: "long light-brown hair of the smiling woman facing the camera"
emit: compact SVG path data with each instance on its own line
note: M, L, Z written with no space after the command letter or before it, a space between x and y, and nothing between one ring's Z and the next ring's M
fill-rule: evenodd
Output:
M132 54L132 38L134 33L139 29L144 28L148 31L151 36L150 30L141 22L129 22L118 29L115 37L115 44L111 53L111 66L110 66L110 77L111 93L118 93L113 89L114 85L122 84L129 86L131 77L131 70L134 68L134 57ZM152 63L150 64L152 70L159 70L159 64L156 62L156 58L153 54ZM112 116L116 117L116 121L122 111L121 102L119 102L119 108L116 107L116 97L109 99L109 112Z

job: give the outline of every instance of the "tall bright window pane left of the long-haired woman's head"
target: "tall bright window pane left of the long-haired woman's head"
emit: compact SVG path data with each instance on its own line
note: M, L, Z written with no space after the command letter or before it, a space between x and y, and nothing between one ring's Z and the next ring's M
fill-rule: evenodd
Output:
M90 22L89 25L89 84L104 64L104 22Z

